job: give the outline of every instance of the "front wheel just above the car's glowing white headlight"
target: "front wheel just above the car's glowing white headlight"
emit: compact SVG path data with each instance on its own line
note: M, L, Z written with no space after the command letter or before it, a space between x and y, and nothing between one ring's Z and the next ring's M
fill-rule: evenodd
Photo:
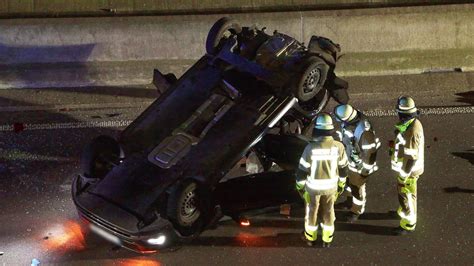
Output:
M182 236L192 237L204 228L209 209L204 195L202 185L193 179L186 179L171 188L167 216Z

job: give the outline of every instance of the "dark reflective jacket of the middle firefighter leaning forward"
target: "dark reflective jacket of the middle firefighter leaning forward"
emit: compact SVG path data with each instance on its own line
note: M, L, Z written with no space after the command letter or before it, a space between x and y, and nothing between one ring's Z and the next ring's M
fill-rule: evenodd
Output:
M338 131L339 139L346 147L349 159L349 170L363 176L368 176L378 170L376 155L380 148L380 140L375 137L375 131L363 114L359 114L357 123L341 124Z

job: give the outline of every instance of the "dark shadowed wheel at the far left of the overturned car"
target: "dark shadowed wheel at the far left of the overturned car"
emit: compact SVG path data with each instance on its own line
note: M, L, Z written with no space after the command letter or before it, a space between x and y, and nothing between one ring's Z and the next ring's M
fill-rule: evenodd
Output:
M120 164L121 157L123 151L115 139L99 136L82 152L82 173L88 178L102 179L114 166Z

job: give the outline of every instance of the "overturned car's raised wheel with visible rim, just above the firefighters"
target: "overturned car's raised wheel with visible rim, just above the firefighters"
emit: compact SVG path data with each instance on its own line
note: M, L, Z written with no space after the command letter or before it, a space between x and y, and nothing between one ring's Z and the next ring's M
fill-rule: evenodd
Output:
M295 97L301 102L311 100L321 90L324 90L324 82L329 71L329 66L318 57L310 57L299 76L296 87Z

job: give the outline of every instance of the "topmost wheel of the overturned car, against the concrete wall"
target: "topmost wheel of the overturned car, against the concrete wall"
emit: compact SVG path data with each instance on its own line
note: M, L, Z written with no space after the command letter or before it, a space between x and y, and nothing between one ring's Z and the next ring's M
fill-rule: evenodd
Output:
M226 34L238 34L242 31L242 27L233 19L223 17L212 25L206 39L206 52L214 55L218 52L218 46L223 37L228 37Z

